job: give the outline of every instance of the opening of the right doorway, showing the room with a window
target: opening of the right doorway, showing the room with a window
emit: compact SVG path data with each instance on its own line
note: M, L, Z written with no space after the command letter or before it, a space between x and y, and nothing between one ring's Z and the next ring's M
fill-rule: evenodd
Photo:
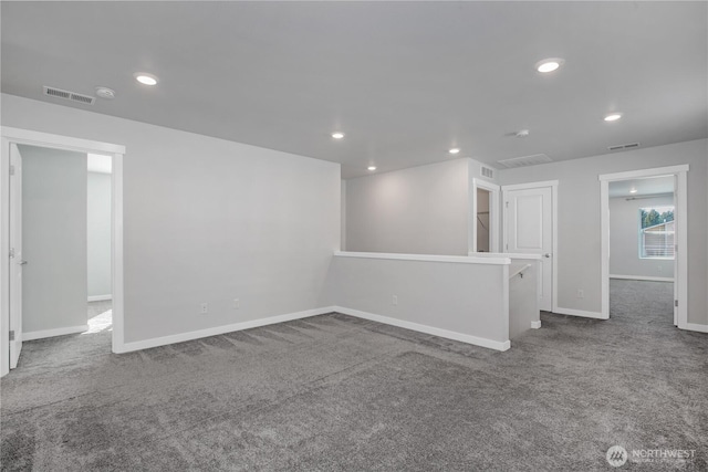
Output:
M610 316L677 324L674 191L674 176L610 182Z

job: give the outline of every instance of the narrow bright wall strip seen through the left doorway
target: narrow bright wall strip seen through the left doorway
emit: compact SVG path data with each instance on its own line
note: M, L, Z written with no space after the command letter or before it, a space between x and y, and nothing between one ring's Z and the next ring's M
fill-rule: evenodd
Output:
M86 196L88 297L110 296L111 174L88 172Z

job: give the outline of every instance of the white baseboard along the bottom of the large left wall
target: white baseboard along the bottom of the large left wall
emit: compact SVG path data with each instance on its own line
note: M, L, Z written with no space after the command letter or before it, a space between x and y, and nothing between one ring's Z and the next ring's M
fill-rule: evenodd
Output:
M149 339L124 343L117 354L131 353L133 350L149 349L150 347L166 346L168 344L184 343L186 340L200 339L202 337L217 336L225 333L236 331L257 328L260 326L273 325L277 323L291 322L293 319L306 318L310 316L324 315L325 313L336 312L335 306L323 308L308 310L304 312L289 313L285 315L270 316L268 318L251 319L248 322L233 323L230 325L216 326L206 329L199 329L188 333L179 333L170 336L154 337ZM115 327L114 327L115 329ZM115 350L114 350L115 352Z

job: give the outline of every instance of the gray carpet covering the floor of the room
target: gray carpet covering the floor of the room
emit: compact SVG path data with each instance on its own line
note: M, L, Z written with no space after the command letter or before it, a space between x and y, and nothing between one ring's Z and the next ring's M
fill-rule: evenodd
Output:
M110 332L27 343L2 380L2 469L589 471L695 449L708 335L542 314L507 353L330 314L125 355ZM638 466L641 465L641 466Z

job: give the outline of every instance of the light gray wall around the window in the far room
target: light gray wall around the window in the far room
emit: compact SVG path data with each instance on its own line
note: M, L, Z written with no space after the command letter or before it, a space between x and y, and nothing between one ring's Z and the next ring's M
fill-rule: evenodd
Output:
M610 275L674 277L674 261L639 258L639 209L674 204L674 196L610 199Z

